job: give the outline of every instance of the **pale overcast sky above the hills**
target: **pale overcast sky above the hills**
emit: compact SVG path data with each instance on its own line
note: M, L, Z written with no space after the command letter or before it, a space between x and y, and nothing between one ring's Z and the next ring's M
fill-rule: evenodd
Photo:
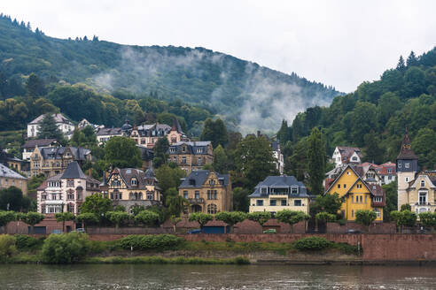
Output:
M340 91L436 45L436 1L2 0L49 36L201 46Z

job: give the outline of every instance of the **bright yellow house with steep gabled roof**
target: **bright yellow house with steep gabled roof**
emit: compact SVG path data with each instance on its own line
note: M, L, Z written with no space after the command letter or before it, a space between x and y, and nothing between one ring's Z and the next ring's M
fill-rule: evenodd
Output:
M376 221L383 221L383 207L385 206L385 192L378 182L365 181L360 170L355 170L353 165L346 165L325 195L337 193L342 198L340 213L348 221L355 220L357 210L374 210L377 214Z

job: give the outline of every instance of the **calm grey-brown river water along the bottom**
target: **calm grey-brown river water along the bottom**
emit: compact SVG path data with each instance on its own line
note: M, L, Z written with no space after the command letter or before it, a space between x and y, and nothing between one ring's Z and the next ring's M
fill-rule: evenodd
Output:
M0 289L436 289L436 267L12 264Z

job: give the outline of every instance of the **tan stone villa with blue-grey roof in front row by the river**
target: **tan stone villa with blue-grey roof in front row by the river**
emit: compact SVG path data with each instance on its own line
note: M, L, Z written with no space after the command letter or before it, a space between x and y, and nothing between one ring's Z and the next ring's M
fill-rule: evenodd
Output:
M233 208L233 195L229 174L197 170L182 179L179 195L190 202L185 213L215 214Z

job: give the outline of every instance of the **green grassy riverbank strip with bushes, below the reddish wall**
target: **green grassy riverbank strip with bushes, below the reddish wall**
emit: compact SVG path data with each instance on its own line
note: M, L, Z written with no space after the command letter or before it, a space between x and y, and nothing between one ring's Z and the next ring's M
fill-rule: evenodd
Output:
M84 233L0 235L0 263L248 264L258 261L358 261L362 248L323 237L293 242L191 241L173 234L90 240ZM309 258L308 258L309 257Z

